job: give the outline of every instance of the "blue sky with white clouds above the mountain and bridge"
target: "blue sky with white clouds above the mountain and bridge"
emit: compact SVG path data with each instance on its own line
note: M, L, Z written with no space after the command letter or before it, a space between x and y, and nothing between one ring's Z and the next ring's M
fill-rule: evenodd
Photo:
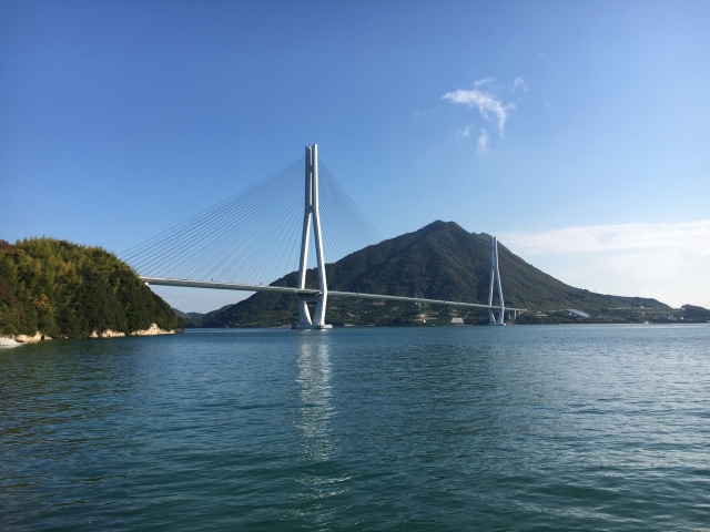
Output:
M4 1L0 238L120 253L317 142L386 237L455 221L710 307L708 28L707 1Z

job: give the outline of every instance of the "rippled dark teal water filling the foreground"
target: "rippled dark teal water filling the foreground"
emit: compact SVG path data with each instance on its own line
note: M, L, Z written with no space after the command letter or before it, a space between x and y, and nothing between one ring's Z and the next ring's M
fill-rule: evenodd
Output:
M710 326L0 351L3 530L708 530Z

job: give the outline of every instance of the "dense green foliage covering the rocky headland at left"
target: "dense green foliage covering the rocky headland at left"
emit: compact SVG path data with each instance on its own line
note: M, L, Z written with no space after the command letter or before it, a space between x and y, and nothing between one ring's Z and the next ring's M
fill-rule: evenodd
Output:
M115 255L53 238L0 241L0 334L78 338L151 324L169 330L176 318Z

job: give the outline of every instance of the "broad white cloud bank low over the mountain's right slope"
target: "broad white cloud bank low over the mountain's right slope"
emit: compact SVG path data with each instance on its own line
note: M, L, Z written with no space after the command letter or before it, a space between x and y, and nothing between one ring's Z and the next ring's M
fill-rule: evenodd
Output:
M710 307L710 219L498 236L514 253L574 286Z

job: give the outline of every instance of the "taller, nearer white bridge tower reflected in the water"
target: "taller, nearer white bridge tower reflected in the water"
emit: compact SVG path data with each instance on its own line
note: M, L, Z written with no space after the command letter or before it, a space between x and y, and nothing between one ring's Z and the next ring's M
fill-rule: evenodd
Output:
M318 294L315 297L297 296L298 329L331 329L325 325L325 306L328 298L328 284L325 278L325 256L323 255L323 233L321 231L321 209L318 202L318 145L306 146L306 196L303 215L303 236L301 237L301 264L298 267L298 288L306 287L308 264L308 243L311 241L311 223L313 222L313 239L318 270ZM311 317L308 301L316 300L315 315Z

